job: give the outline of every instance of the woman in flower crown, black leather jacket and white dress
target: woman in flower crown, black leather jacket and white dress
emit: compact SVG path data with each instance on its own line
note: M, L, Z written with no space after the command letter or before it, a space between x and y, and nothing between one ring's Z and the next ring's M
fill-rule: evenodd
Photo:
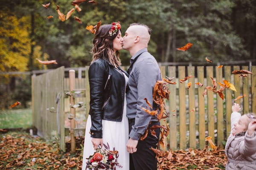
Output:
M129 170L128 119L125 89L128 74L120 68L119 50L123 38L121 25L112 23L99 27L93 38L93 60L89 68L90 111L87 119L82 170L87 158L104 144L118 150L116 170Z

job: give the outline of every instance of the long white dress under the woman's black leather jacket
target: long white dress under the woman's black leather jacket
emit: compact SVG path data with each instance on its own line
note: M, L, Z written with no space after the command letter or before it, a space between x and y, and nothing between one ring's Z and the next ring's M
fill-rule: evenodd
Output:
M124 73L123 73L124 74ZM128 83L128 77L125 76L125 84ZM128 130L128 118L126 117L126 97L124 97L124 109L122 115L122 122L113 122L108 120L102 120L102 139L103 143L110 146L110 150L118 150L119 157L117 158L118 163L122 168L116 167L116 170L129 170L129 153L126 151L126 143L128 142L129 130ZM83 153L83 165L82 170L86 168L86 162L90 155L93 155L95 150L90 137L91 118L88 116L85 138L84 138L84 153ZM105 148L103 146L103 148Z

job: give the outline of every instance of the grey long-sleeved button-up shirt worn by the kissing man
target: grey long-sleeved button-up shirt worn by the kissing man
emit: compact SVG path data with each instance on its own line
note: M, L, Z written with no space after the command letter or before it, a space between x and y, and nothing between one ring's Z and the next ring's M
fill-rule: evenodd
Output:
M138 58L136 59L136 57ZM134 59L136 59L135 62ZM130 138L139 140L140 136L143 135L148 127L149 122L158 121L156 116L151 116L140 107L150 109L144 100L144 98L147 98L148 102L153 106L153 110L156 109L156 105L153 105L154 85L157 80L161 80L162 78L157 61L148 53L147 48L138 51L131 57L130 62L131 64L134 62L134 65L130 70L128 80L129 91L126 94L126 115L128 119L135 118L135 124L132 126L129 134Z

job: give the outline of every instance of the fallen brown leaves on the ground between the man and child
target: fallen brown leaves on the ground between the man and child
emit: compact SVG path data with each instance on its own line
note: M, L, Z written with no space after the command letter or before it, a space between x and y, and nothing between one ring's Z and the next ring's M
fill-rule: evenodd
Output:
M158 170L224 170L227 164L225 150L217 148L210 150L193 150L189 148L187 151L152 149L157 154L159 162Z

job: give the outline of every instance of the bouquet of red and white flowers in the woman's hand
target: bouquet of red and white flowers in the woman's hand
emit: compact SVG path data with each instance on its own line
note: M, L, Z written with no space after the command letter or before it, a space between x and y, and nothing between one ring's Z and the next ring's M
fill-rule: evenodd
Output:
M104 146L107 149L98 148L93 155L89 156L86 168L89 170L116 170L117 167L122 167L118 162L118 151L109 150L105 144ZM114 150L114 149L113 149Z

